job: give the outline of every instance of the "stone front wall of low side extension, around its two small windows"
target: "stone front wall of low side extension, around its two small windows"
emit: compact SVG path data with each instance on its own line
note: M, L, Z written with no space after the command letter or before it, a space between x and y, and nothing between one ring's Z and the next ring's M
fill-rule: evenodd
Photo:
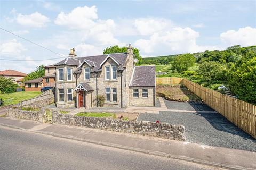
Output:
M139 89L139 97L133 97L133 89ZM142 89L148 89L148 97L142 97ZM154 88L153 87L130 87L129 88L129 98L130 106L154 106Z

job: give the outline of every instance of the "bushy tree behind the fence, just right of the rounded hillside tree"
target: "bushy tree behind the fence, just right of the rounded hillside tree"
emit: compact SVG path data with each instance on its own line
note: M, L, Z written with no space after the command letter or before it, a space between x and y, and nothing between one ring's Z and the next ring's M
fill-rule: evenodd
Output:
M227 78L227 69L224 64L215 61L204 61L199 64L197 73L204 82L213 82Z

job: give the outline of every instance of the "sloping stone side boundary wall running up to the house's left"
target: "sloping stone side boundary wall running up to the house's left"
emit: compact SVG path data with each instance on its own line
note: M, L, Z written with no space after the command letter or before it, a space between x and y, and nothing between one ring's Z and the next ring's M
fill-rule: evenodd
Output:
M40 108L40 107L49 105L51 103L54 103L54 101L55 101L55 89L50 89L43 92L41 95L35 98L21 101L19 105Z

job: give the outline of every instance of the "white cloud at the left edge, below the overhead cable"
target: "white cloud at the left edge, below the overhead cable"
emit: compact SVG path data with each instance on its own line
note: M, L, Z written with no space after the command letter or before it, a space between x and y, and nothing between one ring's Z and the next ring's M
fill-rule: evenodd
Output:
M0 46L0 54L4 57L14 56L15 58L19 58L20 54L26 50L27 49L16 39L2 43Z

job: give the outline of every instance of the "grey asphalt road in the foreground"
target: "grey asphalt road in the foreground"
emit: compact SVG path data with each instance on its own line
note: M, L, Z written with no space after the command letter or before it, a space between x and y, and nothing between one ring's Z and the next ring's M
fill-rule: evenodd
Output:
M1 169L218 169L0 126Z

